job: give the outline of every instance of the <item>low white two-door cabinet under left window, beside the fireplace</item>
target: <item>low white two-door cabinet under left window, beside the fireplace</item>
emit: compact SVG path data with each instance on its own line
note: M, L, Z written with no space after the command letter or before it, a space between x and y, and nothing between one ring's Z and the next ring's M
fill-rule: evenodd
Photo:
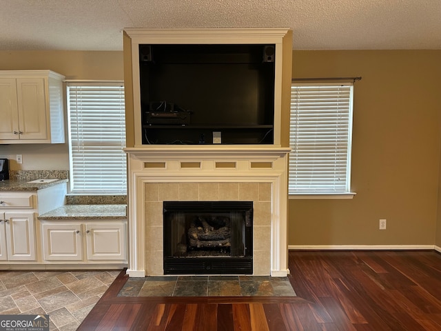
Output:
M127 260L125 220L40 221L45 261L88 264Z

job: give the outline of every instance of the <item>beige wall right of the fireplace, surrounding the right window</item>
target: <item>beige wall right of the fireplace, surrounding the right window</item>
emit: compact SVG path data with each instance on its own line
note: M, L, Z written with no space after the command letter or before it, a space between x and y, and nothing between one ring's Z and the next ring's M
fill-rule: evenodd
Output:
M294 51L293 77L356 77L351 200L290 200L290 245L433 245L441 51ZM387 230L378 220L387 219ZM438 244L441 243L438 214Z

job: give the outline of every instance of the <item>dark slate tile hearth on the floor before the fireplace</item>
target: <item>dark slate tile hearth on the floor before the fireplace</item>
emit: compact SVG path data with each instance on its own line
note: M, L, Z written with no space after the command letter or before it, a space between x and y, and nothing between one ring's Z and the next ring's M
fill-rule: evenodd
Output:
M170 276L130 278L119 297L295 297L287 277Z

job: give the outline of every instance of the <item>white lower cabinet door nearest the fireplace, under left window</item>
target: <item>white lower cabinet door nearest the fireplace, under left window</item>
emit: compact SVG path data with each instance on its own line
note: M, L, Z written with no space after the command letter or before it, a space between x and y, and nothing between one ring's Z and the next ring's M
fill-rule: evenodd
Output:
M125 223L86 224L88 260L126 259Z

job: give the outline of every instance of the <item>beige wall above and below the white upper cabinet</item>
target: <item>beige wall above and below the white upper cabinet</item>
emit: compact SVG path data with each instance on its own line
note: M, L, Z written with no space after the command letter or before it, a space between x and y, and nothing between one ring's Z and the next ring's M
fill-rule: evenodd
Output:
M123 52L0 52L0 70L50 69L66 79L123 79ZM16 154L23 163L15 162ZM68 144L0 145L0 157L12 170L68 170Z

